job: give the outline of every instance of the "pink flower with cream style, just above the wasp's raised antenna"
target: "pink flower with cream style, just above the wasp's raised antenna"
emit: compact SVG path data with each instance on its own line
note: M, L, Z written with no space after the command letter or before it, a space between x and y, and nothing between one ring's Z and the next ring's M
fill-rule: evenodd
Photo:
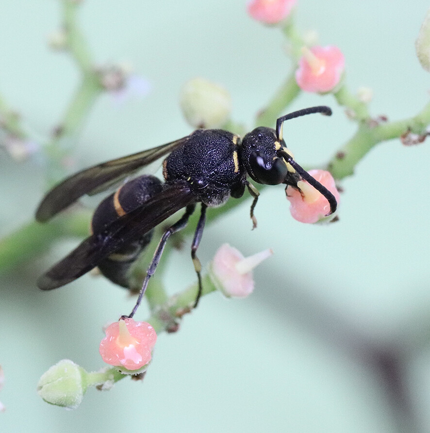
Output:
M333 46L302 48L303 56L298 61L296 81L305 92L325 93L340 82L345 70L342 51Z

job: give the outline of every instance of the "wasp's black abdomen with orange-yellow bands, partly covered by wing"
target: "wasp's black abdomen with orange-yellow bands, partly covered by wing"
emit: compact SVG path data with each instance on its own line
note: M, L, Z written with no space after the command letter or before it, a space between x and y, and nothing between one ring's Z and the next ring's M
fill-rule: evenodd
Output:
M162 182L155 176L140 176L122 185L114 194L106 197L97 207L91 221L93 233L107 226L135 208L143 205L163 189ZM152 238L152 230L134 239L99 264L100 272L113 283L128 288L128 271Z

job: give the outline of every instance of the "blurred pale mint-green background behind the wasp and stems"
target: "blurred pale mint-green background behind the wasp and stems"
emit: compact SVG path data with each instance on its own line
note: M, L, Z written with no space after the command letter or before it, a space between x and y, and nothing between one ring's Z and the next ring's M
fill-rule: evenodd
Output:
M321 45L341 48L349 88L374 91L372 114L396 120L429 98L414 49L428 6L298 0L296 19ZM47 46L60 20L59 1L1 1L0 94L41 141L80 80L70 56ZM281 32L248 17L242 0L86 0L79 23L99 64L130 63L151 89L121 104L99 98L71 170L190 133L178 100L196 76L224 85L233 119L253 128L291 67ZM332 96L303 94L288 111L320 104L333 108L331 118L306 116L284 128L306 167L327 162L355 131ZM88 275L64 289L36 289L36 277L76 240L1 274L1 431L429 432L428 146L393 140L374 148L342 182L336 224L296 222L279 186L260 197L258 229L250 230L250 201L209 225L204 264L225 242L245 255L274 250L255 272L253 295L205 296L180 332L159 336L143 383L91 388L72 412L37 396L39 377L63 358L99 369L102 325L134 302ZM17 163L0 149L0 179L4 236L33 219L45 189L40 158ZM187 247L169 257L172 292L195 281Z

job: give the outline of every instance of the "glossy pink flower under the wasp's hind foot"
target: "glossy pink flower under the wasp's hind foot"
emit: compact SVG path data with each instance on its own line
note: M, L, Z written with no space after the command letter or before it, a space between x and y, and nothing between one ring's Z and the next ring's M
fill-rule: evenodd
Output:
M121 319L108 326L99 352L107 364L137 370L151 360L156 340L157 334L149 323L136 322L132 318Z

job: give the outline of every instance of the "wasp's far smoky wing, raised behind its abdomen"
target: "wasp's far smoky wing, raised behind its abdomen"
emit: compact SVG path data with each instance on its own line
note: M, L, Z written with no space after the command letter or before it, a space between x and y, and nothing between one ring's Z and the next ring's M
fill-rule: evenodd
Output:
M187 138L188 136L143 152L102 162L67 177L43 198L36 211L36 220L41 223L48 221L83 195L102 191L116 181L182 146Z

